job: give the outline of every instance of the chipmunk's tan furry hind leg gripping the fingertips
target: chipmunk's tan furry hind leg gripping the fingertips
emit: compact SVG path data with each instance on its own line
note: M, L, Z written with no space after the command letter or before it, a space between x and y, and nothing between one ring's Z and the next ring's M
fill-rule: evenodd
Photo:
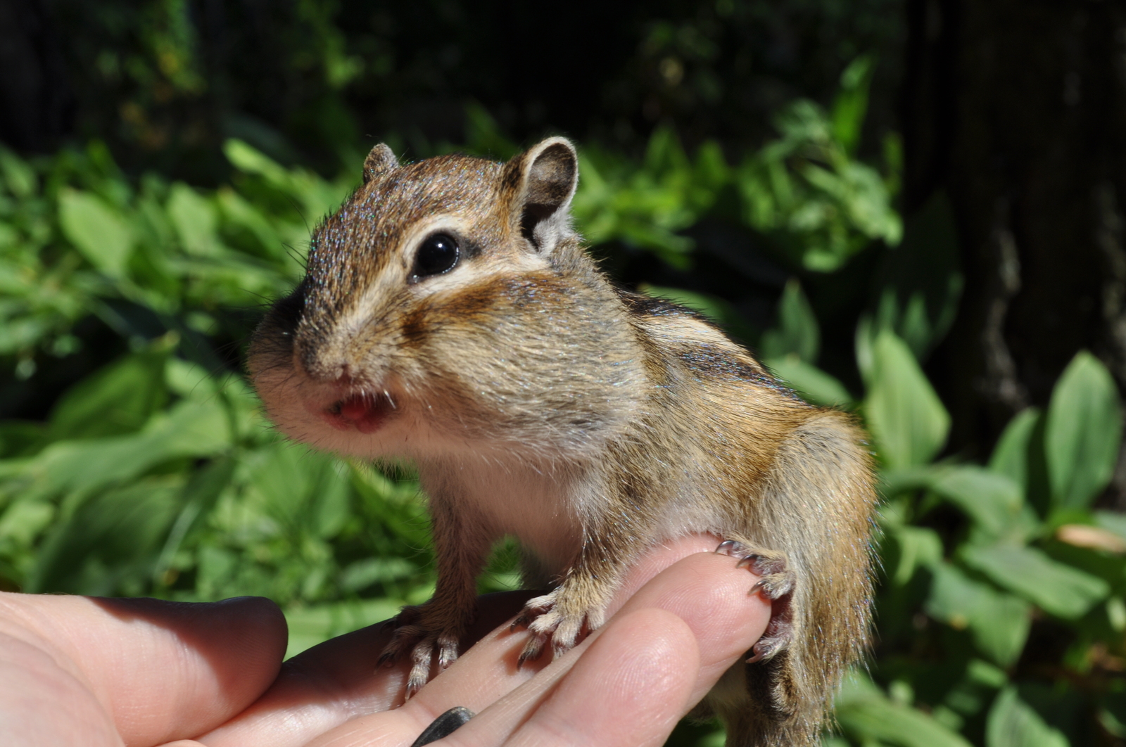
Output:
M785 558L793 583L769 557L749 561L781 593L751 663L708 699L729 747L819 744L841 676L867 645L875 504L870 458L848 415L815 412L779 447L747 531L763 528L761 543Z

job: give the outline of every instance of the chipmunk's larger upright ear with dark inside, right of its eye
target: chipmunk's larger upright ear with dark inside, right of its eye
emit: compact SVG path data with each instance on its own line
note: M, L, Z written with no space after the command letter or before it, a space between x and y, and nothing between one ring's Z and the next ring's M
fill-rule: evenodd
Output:
M504 183L516 190L513 218L540 252L571 233L571 198L579 184L579 154L565 137L548 137L504 165Z

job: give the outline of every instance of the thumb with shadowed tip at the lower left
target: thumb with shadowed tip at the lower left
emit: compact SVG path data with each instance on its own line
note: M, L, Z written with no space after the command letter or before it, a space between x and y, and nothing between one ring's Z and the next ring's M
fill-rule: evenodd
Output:
M243 711L286 647L269 600L0 593L0 744L159 745Z

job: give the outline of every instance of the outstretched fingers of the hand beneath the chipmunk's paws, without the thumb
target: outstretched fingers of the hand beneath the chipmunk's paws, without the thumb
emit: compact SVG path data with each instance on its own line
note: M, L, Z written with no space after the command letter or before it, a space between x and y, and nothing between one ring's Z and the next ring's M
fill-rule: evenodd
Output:
M444 745L663 744L770 616L769 603L749 594L753 576L708 552L716 544L697 536L654 549L631 570L608 623L549 665L545 656L517 669L526 633L500 624L528 594L491 595L481 600L475 634L495 630L402 708L409 664L374 669L391 632L373 626L294 657L261 700L198 739L405 746L462 705L477 716Z

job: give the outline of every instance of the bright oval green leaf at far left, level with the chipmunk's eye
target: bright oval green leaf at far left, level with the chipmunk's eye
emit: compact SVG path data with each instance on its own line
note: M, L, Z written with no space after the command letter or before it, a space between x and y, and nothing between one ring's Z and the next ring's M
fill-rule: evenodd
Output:
M117 210L93 195L66 188L59 194L59 223L90 264L113 278L125 274L133 232Z

